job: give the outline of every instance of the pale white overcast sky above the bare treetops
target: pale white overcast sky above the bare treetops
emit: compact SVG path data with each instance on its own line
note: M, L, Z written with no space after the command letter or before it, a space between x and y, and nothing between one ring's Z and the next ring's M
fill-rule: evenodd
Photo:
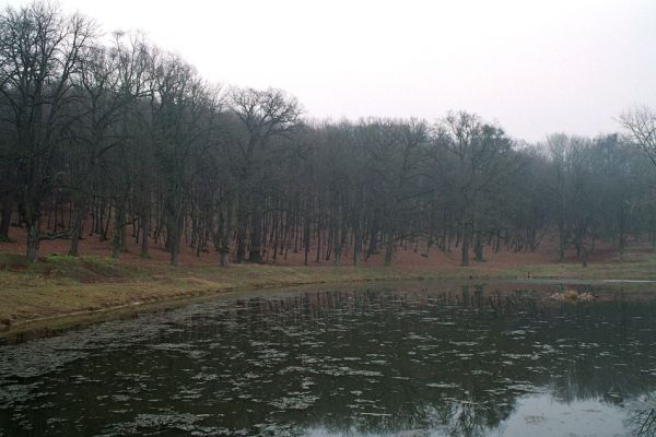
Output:
M616 131L623 109L656 107L656 0L60 4L106 32L143 31L209 80L283 88L315 118L466 109L537 141Z

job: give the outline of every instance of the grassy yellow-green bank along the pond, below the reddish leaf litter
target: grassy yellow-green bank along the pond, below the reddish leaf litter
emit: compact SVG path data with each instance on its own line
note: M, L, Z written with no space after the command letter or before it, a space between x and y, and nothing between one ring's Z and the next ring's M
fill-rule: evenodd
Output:
M352 267L138 265L107 258L52 256L26 264L17 255L0 253L0 330L14 332L35 322L98 314L143 304L172 302L226 291L280 288L303 284L339 284L397 280L484 279L656 279L656 258L623 262L543 264L522 268L437 269Z

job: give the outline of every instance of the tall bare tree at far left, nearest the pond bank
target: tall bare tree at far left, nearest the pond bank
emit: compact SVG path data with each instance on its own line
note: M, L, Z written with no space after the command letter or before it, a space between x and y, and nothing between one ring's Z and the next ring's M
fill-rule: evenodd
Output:
M0 92L13 128L30 262L36 260L40 240L68 234L44 233L40 217L45 200L65 178L56 166L58 149L75 121L70 110L79 98L73 79L93 38L90 21L63 15L47 2L8 8L0 15Z

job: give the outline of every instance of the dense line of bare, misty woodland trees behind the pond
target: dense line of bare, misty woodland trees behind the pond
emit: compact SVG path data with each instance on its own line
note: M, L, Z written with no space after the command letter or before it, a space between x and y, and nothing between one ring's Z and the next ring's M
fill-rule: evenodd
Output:
M528 145L468 113L311 122L282 91L216 86L45 2L2 12L0 84L0 239L24 226L28 261L51 238L79 255L83 233L114 258L134 239L222 265L389 264L401 246L468 264L553 232L585 263L599 239L656 241L654 169L617 134Z

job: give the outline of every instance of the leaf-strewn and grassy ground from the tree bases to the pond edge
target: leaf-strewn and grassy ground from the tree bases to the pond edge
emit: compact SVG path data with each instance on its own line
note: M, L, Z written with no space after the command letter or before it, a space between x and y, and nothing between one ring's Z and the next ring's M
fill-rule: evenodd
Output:
M109 258L110 243L96 236L81 241L79 258L62 256L69 241L43 241L39 262L24 261L24 232L12 227L10 236L16 243L0 243L0 335L37 328L93 320L105 315L141 307L144 304L171 303L194 296L227 291L281 288L303 284L338 284L366 281L403 280L489 280L489 279L656 279L656 256L644 243L633 241L620 257L610 244L597 244L587 268L581 267L575 252L558 262L555 238L546 238L536 251L515 252L485 248L485 262L471 261L459 267L459 248L445 253L425 245L398 248L393 267L383 267L383 255L362 260L361 267L332 261L303 267L303 253L289 251L286 260L271 257L263 265L218 265L216 252L196 257L189 247L183 248L180 265L168 265L168 253L161 247L151 248L151 258L139 257L138 245L131 244L120 260ZM265 257L266 258L266 257Z

